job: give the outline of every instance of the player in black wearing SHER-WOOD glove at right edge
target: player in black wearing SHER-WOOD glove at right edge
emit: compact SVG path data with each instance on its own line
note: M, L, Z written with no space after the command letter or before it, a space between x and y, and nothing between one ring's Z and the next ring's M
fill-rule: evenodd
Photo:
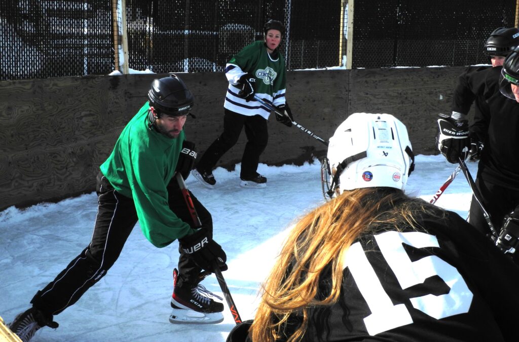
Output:
M441 128L454 128L439 135L438 147L448 161L457 163L458 156L465 158L468 146L471 146L472 159L480 159L475 184L498 233L503 217L519 204L519 156L516 147L519 105L499 92L503 62L518 45L519 29L498 28L492 32L485 43L485 52L490 56L493 67L468 67L458 79L452 115L439 119ZM467 114L473 102L475 115L469 129ZM455 132L456 136L449 135L448 131ZM469 222L482 234L489 233L481 206L474 198Z

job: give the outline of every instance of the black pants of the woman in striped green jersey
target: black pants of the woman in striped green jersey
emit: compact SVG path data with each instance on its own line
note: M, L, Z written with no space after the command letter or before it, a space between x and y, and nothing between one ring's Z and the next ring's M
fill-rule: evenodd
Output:
M197 169L211 171L218 160L236 144L241 130L245 127L247 144L241 157L240 177L244 179L254 177L260 156L268 142L267 120L261 115L247 116L224 109L224 131L204 152Z

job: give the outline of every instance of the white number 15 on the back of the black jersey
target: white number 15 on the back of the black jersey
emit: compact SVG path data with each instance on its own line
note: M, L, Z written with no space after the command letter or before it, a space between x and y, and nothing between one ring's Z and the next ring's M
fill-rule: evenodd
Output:
M414 308L435 319L469 311L473 294L454 266L435 255L412 262L402 245L405 243L415 248L439 247L435 236L418 231L386 231L375 235L375 240L402 289L421 284L427 278L436 275L449 286L450 291L447 294L440 296L427 294L409 298ZM364 318L364 324L370 335L413 323L404 304L393 305L359 242L352 244L346 252L344 265L349 268L372 312Z

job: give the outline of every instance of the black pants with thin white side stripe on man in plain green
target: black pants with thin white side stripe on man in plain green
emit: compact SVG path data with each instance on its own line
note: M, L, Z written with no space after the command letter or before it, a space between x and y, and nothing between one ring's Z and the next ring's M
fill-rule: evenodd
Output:
M169 206L184 222L193 226L192 218L175 180L168 185ZM115 263L122 247L138 221L133 199L122 196L102 173L97 177L98 213L92 240L70 264L41 291L31 303L44 313L58 314L73 305ZM211 232L211 214L191 194L202 226ZM194 286L201 269L182 251L179 258L178 286Z

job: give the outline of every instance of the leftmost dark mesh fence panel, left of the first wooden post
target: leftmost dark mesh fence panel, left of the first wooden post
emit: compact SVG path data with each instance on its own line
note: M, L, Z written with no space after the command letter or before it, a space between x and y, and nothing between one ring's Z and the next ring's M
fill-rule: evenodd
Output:
M2 0L1 79L114 70L111 2Z

